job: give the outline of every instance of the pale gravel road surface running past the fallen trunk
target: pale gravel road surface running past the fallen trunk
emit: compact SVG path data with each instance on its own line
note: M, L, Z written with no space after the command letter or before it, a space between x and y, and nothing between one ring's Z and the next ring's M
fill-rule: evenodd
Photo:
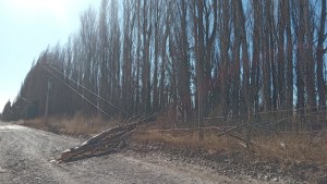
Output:
M72 137L0 122L0 183L263 183L177 167L157 157L113 154L71 163L51 161L78 144Z

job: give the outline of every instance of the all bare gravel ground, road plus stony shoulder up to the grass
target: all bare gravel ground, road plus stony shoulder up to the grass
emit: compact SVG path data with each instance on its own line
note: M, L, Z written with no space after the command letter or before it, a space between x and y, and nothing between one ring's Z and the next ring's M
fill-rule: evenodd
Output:
M327 183L327 169L251 154L209 152L132 140L121 152L55 161L84 139L0 122L0 184L20 183Z

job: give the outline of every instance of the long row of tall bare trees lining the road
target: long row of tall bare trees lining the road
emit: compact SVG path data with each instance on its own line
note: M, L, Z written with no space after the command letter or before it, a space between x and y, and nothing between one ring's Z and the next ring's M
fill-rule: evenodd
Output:
M47 63L83 97L52 76L52 114L97 113L89 102L112 116L179 107L185 121L324 108L325 23L326 0L102 0L40 54L31 73L43 74L28 74L15 103L44 113Z

